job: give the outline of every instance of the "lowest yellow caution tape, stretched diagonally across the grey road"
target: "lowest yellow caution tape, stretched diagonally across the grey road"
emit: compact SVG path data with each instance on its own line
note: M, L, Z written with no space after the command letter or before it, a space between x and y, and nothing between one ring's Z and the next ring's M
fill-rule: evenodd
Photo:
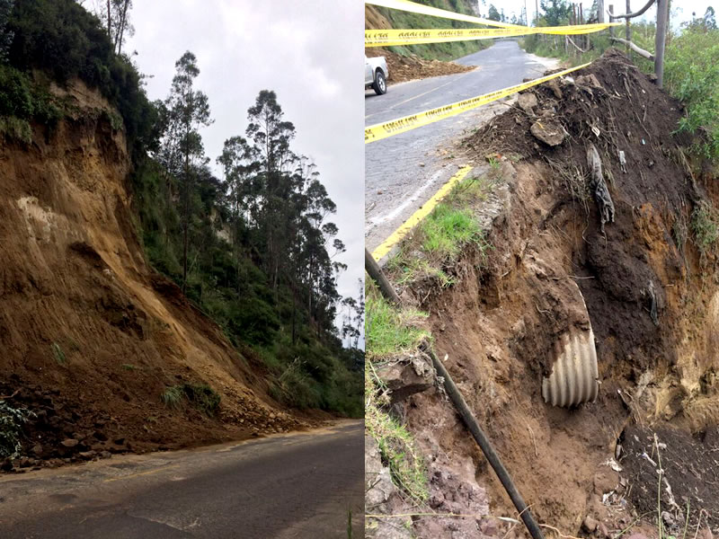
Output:
M521 92L522 90L526 90L527 88L531 88L537 84L546 83L546 81L550 81L559 76L567 75L577 69L589 66L590 63L591 62L582 64L581 66L570 67L569 69L564 69L564 71L560 71L559 73L546 75L533 81L529 81L528 83L516 84L514 86L510 86L509 88L504 88L503 90L497 90L496 92L484 93L484 95L478 95L477 97L466 99L465 101L451 103L449 105L445 105L444 107L438 107L437 109L424 110L423 112L418 112L412 116L405 116L404 118L393 119L381 124L368 126L365 128L365 144L377 142L377 140L382 140L387 137L394 137L400 133L434 123L440 119L457 116L457 114L466 112L466 110L476 109L477 107L497 101L498 99L502 99L502 97L506 97L512 93Z

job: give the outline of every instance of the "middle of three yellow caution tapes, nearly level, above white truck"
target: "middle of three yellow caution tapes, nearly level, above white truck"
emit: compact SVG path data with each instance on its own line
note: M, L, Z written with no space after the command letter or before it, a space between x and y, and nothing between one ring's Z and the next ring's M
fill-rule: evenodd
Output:
M608 24L583 24L574 26L551 26L544 28L427 28L422 30L366 30L365 47L391 47L395 45L419 45L422 43L444 43L447 41L492 40L524 36L528 34L585 34L602 31Z

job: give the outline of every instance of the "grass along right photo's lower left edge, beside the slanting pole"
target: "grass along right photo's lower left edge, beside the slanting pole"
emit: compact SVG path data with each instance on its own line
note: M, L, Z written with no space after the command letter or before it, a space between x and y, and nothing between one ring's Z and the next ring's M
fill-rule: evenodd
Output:
M419 327L427 315L389 305L377 285L366 277L367 349L365 367L365 428L377 441L383 464L389 467L395 486L417 503L429 496L427 471L412 435L393 417L385 384L377 367L388 361L402 361L416 353L428 331Z

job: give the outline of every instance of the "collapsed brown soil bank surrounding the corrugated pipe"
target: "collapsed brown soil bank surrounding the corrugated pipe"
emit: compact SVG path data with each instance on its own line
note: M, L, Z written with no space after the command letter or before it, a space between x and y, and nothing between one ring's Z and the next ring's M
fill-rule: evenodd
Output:
M677 134L682 112L613 49L571 77L522 93L465 141L472 157L502 162L491 215L483 216L492 222L492 249L466 252L445 268L452 287L404 290L430 312L435 349L447 355L533 513L565 534L588 522L583 533L606 537L645 508L656 510L656 468L638 464L644 451L652 456L653 432L668 459L659 493L665 529L680 533L687 503L690 526L700 517L706 526L706 511L716 525L716 496L707 494L715 492L714 474L679 464L680 455L715 446L719 422L716 245L701 235L716 218L719 189L702 163L690 165L692 141ZM606 189L593 177L592 148ZM541 380L557 343L589 324L599 397L551 407ZM513 515L439 393L414 394L401 406L431 468L441 462L445 475L469 484L475 478L461 463L471 459L490 514ZM708 465L702 459L695 468ZM442 507L439 499L430 505ZM474 525L504 535L496 522Z

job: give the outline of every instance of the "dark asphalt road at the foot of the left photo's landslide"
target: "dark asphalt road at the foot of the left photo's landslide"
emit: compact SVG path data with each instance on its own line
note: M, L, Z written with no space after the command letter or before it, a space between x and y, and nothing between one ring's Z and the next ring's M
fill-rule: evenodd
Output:
M0 479L0 537L364 536L364 425Z

